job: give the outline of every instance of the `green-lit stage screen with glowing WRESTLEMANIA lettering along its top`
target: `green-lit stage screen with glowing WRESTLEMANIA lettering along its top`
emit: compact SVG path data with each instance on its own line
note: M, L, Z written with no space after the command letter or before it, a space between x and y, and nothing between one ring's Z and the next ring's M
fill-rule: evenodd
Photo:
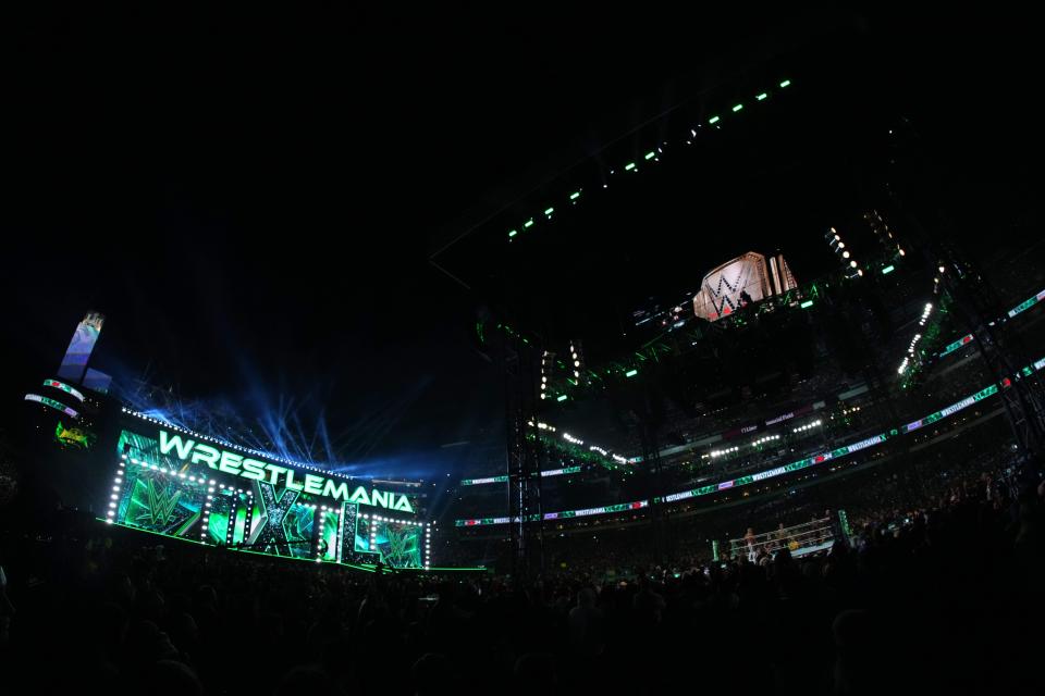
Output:
M110 523L270 556L426 566L427 526L395 512L413 512L406 496L233 455L200 436L162 427L157 435L121 431ZM378 513L385 510L396 517Z

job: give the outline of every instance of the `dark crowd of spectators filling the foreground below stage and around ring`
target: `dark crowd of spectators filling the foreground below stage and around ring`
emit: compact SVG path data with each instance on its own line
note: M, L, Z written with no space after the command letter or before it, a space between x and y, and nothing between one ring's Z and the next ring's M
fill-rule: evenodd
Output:
M861 478L851 544L757 563L713 561L706 537L831 514L855 480L723 510L713 533L677 520L667 560L642 525L552 537L525 579L362 574L95 522L7 532L7 693L1042 693L1045 486L968 447Z

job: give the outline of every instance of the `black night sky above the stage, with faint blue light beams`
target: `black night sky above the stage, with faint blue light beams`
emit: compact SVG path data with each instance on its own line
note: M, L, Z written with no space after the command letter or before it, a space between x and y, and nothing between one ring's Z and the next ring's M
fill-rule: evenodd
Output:
M896 98L950 114L942 150L967 133L989 152L989 127L1011 150L1032 123L1033 51L1008 17L26 12L4 48L4 408L97 309L97 366L118 378L255 415L292 400L343 461L404 473L503 420L469 344L477 298L429 253L723 65L861 25Z

